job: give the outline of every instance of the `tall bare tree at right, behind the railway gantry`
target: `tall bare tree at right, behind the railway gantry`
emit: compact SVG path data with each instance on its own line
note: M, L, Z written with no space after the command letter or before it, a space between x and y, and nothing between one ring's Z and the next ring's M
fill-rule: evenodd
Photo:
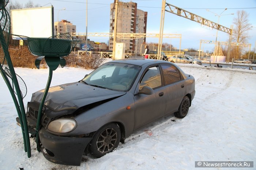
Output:
M234 18L233 23L236 27L233 29L232 41L236 41L238 44L246 43L249 38L247 32L251 29L251 24L248 20L248 13L244 10L237 11L237 17ZM240 58L242 48L236 46L236 48L232 49L231 54L234 54L234 58Z

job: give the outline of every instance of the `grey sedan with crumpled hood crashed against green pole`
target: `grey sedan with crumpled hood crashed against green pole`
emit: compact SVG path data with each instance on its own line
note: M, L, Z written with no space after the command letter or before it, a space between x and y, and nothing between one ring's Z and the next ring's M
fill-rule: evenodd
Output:
M33 93L27 104L32 136L43 92ZM193 76L170 62L105 63L78 82L49 89L39 130L42 153L51 162L79 166L83 154L102 157L133 131L167 114L184 118L194 96Z

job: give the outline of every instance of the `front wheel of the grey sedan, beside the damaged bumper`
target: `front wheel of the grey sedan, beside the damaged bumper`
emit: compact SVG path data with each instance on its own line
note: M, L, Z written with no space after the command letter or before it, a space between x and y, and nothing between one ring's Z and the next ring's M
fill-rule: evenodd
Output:
M96 158L112 152L119 145L121 131L117 124L109 123L99 129L89 145L89 152Z

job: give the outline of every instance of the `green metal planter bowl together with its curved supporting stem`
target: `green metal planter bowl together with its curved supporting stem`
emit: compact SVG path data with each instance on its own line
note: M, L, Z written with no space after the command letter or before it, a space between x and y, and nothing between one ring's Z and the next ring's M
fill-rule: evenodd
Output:
M39 130L41 126L41 118L42 118L42 108L44 106L45 98L48 93L50 83L52 81L53 71L56 70L59 65L64 67L66 64L64 56L69 55L75 46L72 36L69 33L64 33L60 35L55 35L49 38L31 38L26 36L19 36L23 39L24 43L27 44L29 51L35 55L39 56L35 60L35 66L39 69L40 62L43 58L45 58L46 64L49 67L49 77L48 82L46 84L46 88L44 91L44 95L42 97L38 116L37 116L37 127L36 127L36 143L37 150L40 151L40 141L39 141Z

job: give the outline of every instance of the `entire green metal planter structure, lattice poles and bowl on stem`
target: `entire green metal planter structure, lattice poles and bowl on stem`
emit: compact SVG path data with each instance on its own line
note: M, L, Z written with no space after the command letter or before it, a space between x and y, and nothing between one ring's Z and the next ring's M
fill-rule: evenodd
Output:
M29 131L27 127L26 112L23 104L23 98L27 94L27 87L24 81L15 74L14 67L8 51L8 39L10 37L10 16L5 9L8 0L0 0L0 72L3 76L5 83L11 93L12 99L18 113L20 126L22 129L23 141L25 152L27 156L31 157ZM42 108L44 106L45 98L48 93L50 83L52 80L53 71L56 70L59 65L64 67L66 64L63 56L67 56L75 46L72 36L69 33L52 36L49 38L32 38L26 36L19 36L23 39L29 51L36 56L39 56L35 60L35 66L39 69L40 62L43 58L49 67L49 77L46 84L46 88L39 106L37 126L36 126L36 143L37 150L40 151L40 141L38 132L41 126Z

